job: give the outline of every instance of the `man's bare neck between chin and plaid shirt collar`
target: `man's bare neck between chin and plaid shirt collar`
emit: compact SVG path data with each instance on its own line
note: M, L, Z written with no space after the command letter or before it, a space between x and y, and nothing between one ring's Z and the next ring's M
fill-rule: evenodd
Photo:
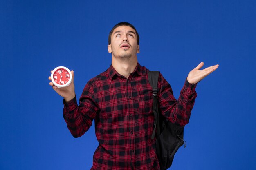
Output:
M117 59L112 56L113 68L115 68L115 70L119 74L123 75L126 78L128 78L130 73L132 73L135 70L137 63L138 63L137 56L130 59L126 59L126 60Z

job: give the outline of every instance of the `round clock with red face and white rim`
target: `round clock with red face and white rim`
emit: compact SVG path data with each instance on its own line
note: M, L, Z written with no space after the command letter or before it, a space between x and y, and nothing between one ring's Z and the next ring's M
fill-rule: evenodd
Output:
M72 74L67 67L59 66L54 68L51 78L54 86L57 86L58 88L66 87L71 83Z

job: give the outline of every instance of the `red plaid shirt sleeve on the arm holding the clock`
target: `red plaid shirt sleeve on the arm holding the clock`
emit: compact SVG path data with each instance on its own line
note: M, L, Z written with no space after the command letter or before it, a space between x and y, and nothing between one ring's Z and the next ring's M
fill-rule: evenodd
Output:
M65 102L63 99L63 104L63 117L67 123L67 128L74 137L82 136L92 126L92 121L99 111L99 107L94 100L91 82L85 85L79 99L79 106L76 97L69 102Z

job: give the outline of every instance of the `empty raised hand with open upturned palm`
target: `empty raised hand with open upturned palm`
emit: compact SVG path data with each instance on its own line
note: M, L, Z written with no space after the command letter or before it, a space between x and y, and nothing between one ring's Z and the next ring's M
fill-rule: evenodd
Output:
M189 83L195 84L200 82L202 79L204 79L204 77L206 77L207 75L215 71L218 68L219 64L200 70L202 66L204 66L204 62L201 62L200 64L198 64L197 67L195 67L193 70L189 72L189 75L187 78Z

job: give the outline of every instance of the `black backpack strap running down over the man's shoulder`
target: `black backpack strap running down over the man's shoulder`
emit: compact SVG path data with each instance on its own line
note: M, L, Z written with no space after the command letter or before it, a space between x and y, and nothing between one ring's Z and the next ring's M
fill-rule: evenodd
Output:
M151 136L151 139L155 138L155 131L157 129L157 135L160 135L159 129L159 113L158 113L158 102L157 102L157 84L158 84L159 71L149 71L148 72L148 80L153 89L153 112L155 116L154 120L154 130Z

